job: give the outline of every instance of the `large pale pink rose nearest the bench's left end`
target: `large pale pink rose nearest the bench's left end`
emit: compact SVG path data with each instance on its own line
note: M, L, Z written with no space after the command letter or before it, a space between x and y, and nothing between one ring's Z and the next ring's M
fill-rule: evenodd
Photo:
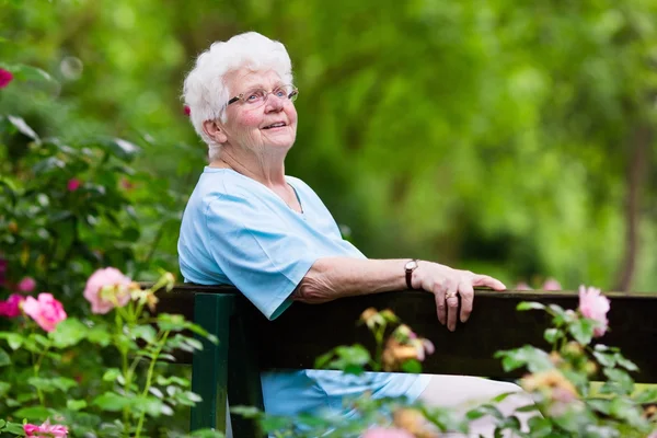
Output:
M131 279L114 267L99 269L87 280L84 298L91 303L93 313L107 313L130 301L131 284Z

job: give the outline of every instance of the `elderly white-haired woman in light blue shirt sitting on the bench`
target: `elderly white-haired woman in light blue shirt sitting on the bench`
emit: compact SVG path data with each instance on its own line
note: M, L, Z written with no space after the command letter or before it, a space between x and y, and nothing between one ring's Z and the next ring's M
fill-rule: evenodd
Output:
M184 99L208 145L209 164L183 217L178 253L185 281L234 285L270 320L293 301L423 289L434 293L438 321L450 331L468 320L473 287L505 289L495 278L434 262L370 260L343 240L320 197L285 173L298 94L284 45L260 34L215 43L198 57ZM265 410L278 415L338 410L343 396L366 390L376 397L456 405L517 389L479 378L405 373L347 382L324 370L268 372L262 384ZM482 423L472 431L492 430Z

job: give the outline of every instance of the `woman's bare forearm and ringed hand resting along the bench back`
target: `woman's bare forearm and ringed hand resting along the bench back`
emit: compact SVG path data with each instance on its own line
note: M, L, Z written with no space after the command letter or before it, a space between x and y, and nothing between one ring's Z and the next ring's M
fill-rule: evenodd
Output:
M341 297L378 293L406 289L404 266L408 260L361 260L324 257L318 260L303 277L292 298L307 303L322 303ZM506 287L497 279L459 270L433 262L420 261L413 272L412 285L436 297L438 321L450 331L457 326L461 296L461 322L472 312L473 287L487 286L495 290ZM446 296L452 298L447 298Z

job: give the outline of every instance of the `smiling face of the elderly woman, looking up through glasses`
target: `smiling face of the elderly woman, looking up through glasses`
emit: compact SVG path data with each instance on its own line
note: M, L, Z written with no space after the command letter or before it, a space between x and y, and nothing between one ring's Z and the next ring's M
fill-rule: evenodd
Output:
M247 97L246 93L256 89L270 92L286 85L274 70L241 69L229 74L227 79L229 99L242 93ZM269 93L262 105L237 101L228 105L227 116L223 132L228 142L233 146L251 150L279 148L287 151L297 137L297 110L287 95Z

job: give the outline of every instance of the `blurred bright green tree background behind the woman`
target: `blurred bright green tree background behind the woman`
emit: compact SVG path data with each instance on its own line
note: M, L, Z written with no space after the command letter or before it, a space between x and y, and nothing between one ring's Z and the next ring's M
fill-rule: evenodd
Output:
M368 256L508 287L657 290L654 0L0 4L0 61L59 82L28 100L30 83L12 83L0 110L45 134L140 145L148 184L183 195L178 216L206 151L184 76L212 42L257 31L286 45L300 89L287 173ZM166 230L175 269L177 223Z

